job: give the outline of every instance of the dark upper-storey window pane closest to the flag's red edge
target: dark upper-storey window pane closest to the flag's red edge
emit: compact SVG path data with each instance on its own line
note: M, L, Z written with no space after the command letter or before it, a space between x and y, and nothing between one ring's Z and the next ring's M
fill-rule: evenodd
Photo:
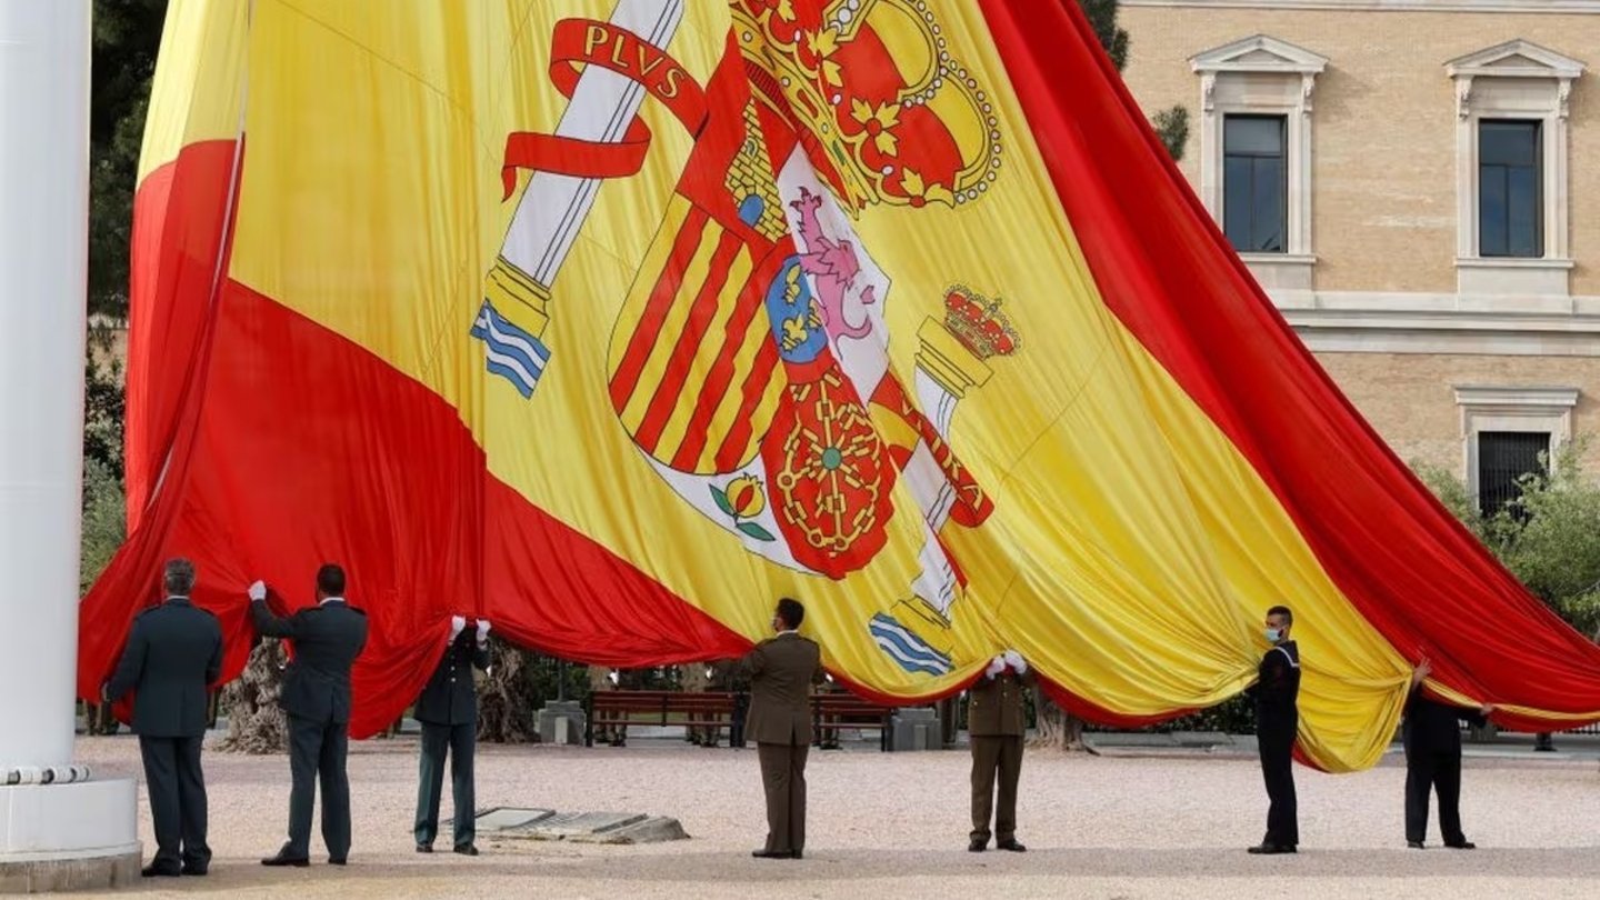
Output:
M1222 231L1240 253L1283 253L1288 219L1282 115L1222 120Z

